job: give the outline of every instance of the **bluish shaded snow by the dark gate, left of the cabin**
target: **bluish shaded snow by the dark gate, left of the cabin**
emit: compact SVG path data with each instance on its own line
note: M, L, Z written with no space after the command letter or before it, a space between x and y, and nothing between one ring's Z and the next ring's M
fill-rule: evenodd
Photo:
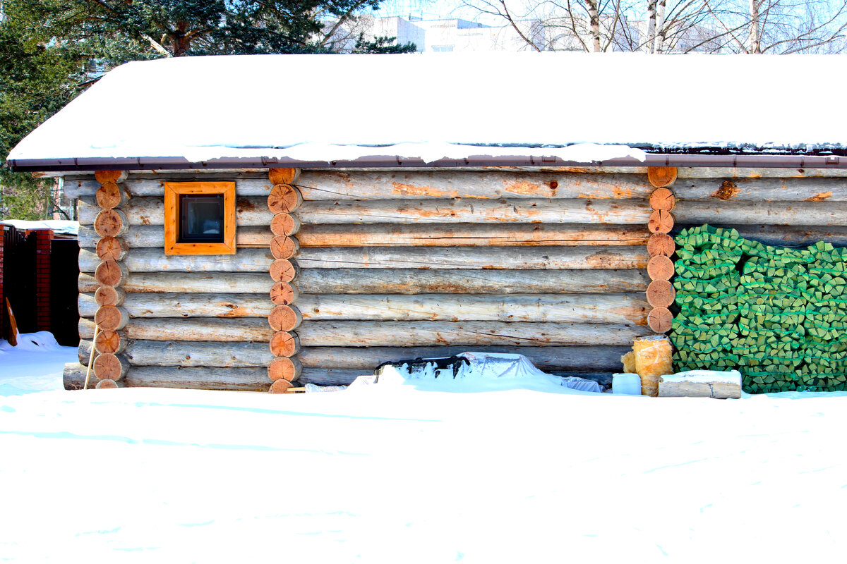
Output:
M0 396L64 390L64 364L77 361L75 347L62 347L53 333L18 335L18 346L0 339Z

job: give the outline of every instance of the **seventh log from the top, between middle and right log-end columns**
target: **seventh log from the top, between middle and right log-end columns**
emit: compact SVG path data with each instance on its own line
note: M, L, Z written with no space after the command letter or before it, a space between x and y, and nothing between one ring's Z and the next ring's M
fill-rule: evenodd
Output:
M297 329L302 347L631 346L645 326L502 321L310 321Z

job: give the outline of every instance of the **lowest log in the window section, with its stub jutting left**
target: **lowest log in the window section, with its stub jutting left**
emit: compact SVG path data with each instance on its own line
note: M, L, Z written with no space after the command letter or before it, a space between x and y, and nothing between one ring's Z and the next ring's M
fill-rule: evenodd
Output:
M80 390L86 380L82 364L64 365L64 388ZM123 379L127 387L168 387L195 390L233 390L238 392L267 392L270 387L265 368L178 368L175 366L137 366ZM97 385L91 378L89 387Z

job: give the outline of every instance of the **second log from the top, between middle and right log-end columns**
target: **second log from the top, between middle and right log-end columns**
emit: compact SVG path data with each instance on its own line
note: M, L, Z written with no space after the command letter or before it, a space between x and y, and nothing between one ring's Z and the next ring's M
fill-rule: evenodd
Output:
M338 200L306 202L307 223L604 223L645 225L646 200Z

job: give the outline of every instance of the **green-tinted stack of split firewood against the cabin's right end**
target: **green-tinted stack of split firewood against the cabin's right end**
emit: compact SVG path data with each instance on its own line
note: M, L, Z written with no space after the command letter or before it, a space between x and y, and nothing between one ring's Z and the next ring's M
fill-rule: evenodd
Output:
M847 253L772 247L734 229L679 234L676 362L739 367L746 392L847 388Z

